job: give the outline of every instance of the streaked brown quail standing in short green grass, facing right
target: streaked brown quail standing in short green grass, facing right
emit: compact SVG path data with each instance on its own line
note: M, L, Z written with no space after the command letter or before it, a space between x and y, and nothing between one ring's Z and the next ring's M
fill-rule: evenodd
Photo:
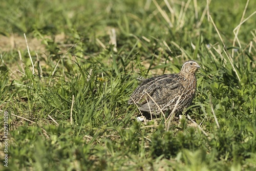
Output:
M128 104L136 104L140 111L159 115L172 112L180 98L175 113L182 112L196 95L199 68L195 60L187 60L179 73L144 79L130 96Z

